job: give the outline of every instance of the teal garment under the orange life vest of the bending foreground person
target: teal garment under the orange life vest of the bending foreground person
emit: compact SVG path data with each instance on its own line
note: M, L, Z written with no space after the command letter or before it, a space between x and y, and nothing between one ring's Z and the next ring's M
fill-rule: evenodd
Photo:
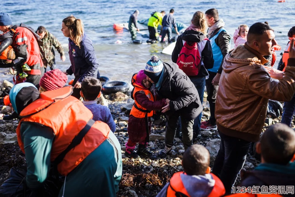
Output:
M27 122L21 124L20 132L27 162L26 183L37 189L48 176L55 136L51 128ZM105 140L89 154L67 175L59 196L116 196L122 176L121 146L113 132L109 138L115 146Z

